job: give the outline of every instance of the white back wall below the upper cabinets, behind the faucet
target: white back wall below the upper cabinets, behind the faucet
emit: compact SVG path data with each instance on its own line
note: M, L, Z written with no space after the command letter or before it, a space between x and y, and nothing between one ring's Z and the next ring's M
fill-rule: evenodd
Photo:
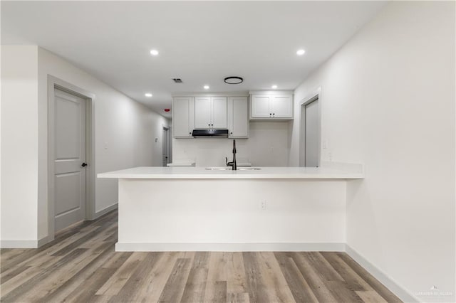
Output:
M249 139L236 139L236 158L252 166L287 166L289 122L251 122ZM224 166L232 161L232 139L172 139L172 161L192 159L197 166Z

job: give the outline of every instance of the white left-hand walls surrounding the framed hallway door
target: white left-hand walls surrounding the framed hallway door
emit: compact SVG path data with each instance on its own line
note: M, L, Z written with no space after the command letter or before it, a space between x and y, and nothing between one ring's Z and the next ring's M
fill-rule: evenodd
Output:
M162 164L165 117L47 50L1 50L2 245L4 240L33 243L48 235L48 75L95 95L96 173ZM117 182L97 179L95 212L117 201Z

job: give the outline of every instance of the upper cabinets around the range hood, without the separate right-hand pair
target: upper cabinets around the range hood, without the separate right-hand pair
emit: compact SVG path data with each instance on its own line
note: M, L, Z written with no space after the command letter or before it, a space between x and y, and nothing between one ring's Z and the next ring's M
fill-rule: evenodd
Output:
M247 97L175 97L175 138L192 138L193 129L228 129L229 138L248 138Z

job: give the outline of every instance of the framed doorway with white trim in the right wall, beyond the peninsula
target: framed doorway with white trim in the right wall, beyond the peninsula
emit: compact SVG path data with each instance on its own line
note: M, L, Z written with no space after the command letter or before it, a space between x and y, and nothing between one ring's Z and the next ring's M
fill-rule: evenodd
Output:
M299 166L319 167L321 161L320 89L301 102Z

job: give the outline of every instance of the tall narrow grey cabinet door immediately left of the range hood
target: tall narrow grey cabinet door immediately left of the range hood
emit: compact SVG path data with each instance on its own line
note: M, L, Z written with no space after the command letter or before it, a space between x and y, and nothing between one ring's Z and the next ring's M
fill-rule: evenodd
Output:
M195 103L192 97L175 97L172 102L172 136L192 137Z

